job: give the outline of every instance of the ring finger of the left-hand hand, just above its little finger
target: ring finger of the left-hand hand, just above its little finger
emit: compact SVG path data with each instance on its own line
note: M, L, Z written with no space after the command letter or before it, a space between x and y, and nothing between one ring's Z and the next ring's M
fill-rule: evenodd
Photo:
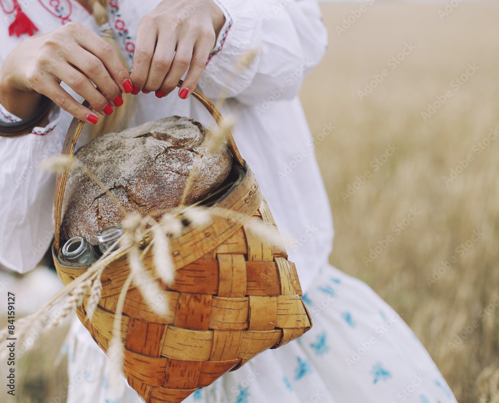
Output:
M92 108L101 114L110 115L113 109L108 100L90 82L87 76L69 64L58 63L54 68L57 77L64 81L74 92L86 99ZM52 73L52 75L54 75Z

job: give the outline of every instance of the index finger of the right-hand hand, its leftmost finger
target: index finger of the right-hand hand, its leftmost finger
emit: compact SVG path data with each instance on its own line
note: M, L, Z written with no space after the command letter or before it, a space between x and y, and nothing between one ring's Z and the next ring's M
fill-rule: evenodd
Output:
M154 54L157 40L157 28L152 27L148 17L142 18L137 30L137 43L133 54L132 74L130 76L133 84L144 89L149 67Z

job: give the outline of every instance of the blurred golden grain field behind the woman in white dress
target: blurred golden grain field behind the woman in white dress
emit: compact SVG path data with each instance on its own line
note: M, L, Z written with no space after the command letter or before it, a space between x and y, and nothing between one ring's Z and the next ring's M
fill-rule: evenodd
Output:
M448 15L439 15L444 1L364 3L341 34L336 26L363 3L322 3L329 49L301 99L313 134L335 126L316 150L335 220L331 263L402 315L459 402L499 402L499 139L477 145L499 126L499 2L453 3ZM404 47L409 54L388 64ZM456 89L453 80L473 63L478 70ZM425 122L421 112L446 91L452 96ZM443 176L468 154L474 160L448 186ZM342 197L349 186L351 197ZM399 223L403 230L394 230ZM473 231L483 233L476 242ZM372 262L363 259L387 236L392 242ZM65 330L18 362L9 402L64 402L53 399L66 388L64 360L52 363Z

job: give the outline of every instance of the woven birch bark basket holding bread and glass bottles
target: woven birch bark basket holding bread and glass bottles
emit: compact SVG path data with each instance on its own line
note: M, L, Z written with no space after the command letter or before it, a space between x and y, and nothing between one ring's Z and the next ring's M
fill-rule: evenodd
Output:
M213 103L198 91L193 95L220 124L222 117ZM63 155L72 155L82 127L83 122L73 119ZM172 283L164 284L156 274L151 249L144 256L145 270L158 282L168 301L167 312L156 313L133 283L126 292L119 329L124 346L123 374L147 403L182 402L258 353L283 346L312 326L301 299L296 268L287 260L284 246L249 225L251 220L258 220L277 231L232 134L228 145L234 156L235 182L212 205L226 213L214 214L206 225L188 225L180 236L170 237L175 266ZM57 175L52 248L57 273L65 285L88 268L61 258L66 179L67 172ZM85 301L77 308L78 318L106 353L118 296L129 274L124 251L102 272L101 299L92 319L86 318ZM87 294L85 300L88 298Z

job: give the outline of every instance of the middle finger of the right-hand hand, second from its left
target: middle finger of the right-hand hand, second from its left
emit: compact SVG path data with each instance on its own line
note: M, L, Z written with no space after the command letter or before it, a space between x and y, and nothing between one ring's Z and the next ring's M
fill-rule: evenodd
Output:
M165 35L160 35L156 49L154 50L154 56L151 60L151 66L149 67L149 74L144 87L146 90L161 90L163 81L172 66L176 44L176 40L173 41Z

